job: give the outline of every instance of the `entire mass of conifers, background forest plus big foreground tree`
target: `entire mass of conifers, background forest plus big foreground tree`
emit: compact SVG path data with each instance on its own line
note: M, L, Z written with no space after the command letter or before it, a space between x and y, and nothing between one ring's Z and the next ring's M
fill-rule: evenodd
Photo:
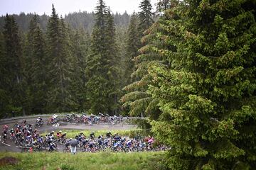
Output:
M113 15L99 0L95 13L62 17L52 6L50 16L2 17L0 117L144 116L171 147L163 169L255 169L256 2L139 8Z

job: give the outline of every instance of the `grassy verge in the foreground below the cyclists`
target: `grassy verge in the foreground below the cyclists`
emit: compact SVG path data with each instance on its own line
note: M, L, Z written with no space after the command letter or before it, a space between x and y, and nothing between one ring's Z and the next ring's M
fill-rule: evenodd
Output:
M70 153L63 154L55 153L11 153L0 152L2 157L15 157L18 159L18 164L9 166L0 166L3 170L21 170L33 169L41 170L46 167L46 170L82 170L82 169L124 169L124 170L156 170L158 162L163 157L164 152L142 152L142 153L78 153L72 155Z

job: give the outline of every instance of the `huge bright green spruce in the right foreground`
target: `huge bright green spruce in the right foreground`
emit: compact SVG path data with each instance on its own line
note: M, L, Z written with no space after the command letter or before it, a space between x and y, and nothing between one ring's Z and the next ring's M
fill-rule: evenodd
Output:
M153 132L171 146L166 167L254 169L256 4L186 3L166 21L169 67L150 72L162 111Z

